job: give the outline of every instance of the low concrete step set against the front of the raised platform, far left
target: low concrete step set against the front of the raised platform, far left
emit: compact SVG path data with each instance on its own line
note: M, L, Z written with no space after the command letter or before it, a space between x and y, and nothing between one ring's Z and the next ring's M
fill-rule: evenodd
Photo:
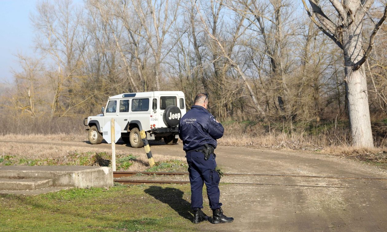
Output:
M36 190L53 185L53 179L11 179L0 177L1 190Z

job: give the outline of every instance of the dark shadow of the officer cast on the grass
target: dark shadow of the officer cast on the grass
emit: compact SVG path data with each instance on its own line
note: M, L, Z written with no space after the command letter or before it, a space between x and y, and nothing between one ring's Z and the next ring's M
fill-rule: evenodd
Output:
M161 188L150 186L145 192L155 199L168 204L180 216L192 222L194 215L191 213L191 204L183 199L183 191L176 188Z

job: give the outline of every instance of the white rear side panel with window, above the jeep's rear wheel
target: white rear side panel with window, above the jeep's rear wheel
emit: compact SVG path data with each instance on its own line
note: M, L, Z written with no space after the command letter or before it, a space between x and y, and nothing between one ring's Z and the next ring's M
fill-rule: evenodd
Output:
M151 116L151 97L132 98L130 101L129 121L140 121L142 130L149 131Z

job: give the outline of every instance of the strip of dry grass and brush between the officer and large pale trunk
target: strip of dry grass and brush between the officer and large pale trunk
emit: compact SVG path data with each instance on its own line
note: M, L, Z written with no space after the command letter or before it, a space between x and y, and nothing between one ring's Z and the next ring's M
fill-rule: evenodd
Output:
M306 127L277 123L230 123L225 125L220 145L253 146L265 148L289 148L322 150L325 147L349 146L351 137L348 128L332 124Z

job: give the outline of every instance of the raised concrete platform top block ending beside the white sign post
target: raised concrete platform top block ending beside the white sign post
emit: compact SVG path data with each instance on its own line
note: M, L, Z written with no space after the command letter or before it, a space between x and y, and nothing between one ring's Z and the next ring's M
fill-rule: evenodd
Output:
M0 177L53 179L55 186L76 188L113 186L113 171L110 167L3 166L0 167Z

